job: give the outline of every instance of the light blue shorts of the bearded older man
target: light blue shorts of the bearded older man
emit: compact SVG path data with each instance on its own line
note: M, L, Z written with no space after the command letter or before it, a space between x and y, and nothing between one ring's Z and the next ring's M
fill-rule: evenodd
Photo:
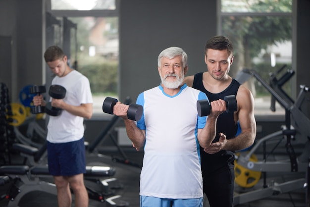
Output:
M161 199L140 196L140 207L203 207L204 199Z

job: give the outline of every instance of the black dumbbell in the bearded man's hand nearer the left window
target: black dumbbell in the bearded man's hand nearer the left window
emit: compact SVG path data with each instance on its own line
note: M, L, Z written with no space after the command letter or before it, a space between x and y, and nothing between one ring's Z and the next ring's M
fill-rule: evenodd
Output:
M113 107L117 103L117 99L106 97L103 101L103 112L113 114ZM139 104L130 104L128 111L127 111L127 117L134 121L139 121L141 119L143 113L143 107Z

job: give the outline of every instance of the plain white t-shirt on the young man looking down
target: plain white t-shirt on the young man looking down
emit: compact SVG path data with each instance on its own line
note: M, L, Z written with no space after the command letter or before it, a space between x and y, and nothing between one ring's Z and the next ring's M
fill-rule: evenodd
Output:
M71 105L92 104L89 80L73 70L64 77L54 77L52 85L66 89L63 101ZM62 110L59 116L50 116L47 140L51 143L66 143L80 140L84 136L84 118Z

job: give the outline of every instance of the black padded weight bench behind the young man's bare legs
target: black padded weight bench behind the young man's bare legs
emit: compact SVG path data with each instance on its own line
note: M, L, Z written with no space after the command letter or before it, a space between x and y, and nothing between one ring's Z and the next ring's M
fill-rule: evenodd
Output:
M4 165L0 167L0 185L10 183L5 195L2 199L8 199L7 207L17 207L23 196L29 192L42 191L52 195L57 195L56 186L53 183L43 181L43 177L52 177L49 175L48 166L37 165L29 167L28 165ZM102 177L110 177L115 174L112 167L107 166L86 166L86 179L101 179ZM90 199L104 202L104 195L93 191L86 186ZM111 200L108 200L114 203Z

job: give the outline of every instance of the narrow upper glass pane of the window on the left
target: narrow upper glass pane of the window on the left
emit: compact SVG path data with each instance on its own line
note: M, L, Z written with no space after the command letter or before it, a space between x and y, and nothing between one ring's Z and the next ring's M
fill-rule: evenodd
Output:
M114 10L115 0L51 0L52 10Z

